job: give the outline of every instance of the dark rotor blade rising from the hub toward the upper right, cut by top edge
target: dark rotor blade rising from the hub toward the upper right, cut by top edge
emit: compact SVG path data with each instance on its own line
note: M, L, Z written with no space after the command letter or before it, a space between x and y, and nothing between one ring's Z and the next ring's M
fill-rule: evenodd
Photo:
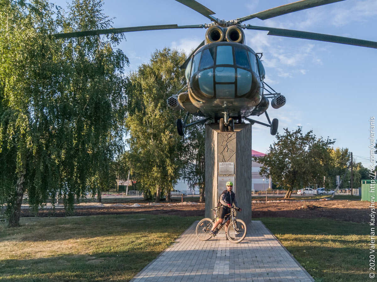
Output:
M285 15L292 12L301 11L308 8L313 8L313 7L322 6L322 5L340 2L340 1L344 1L344 0L301 0L301 1L293 2L287 5L282 5L279 7L268 9L262 12L258 12L255 14L251 14L243 18L238 18L237 21L241 23L242 21L247 21L252 18L259 18L261 20L267 20L268 18L273 18L280 15Z

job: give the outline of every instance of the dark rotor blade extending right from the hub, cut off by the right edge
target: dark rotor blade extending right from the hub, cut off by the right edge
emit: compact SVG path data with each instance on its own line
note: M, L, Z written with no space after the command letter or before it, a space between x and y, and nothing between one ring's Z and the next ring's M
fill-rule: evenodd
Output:
M328 35L328 34L307 32L307 31L295 31L295 30L292 30L292 29L267 28L267 27L264 27L264 26L247 25L246 28L247 29L260 30L260 31L268 31L267 35L276 35L276 36L302 38L302 39L310 39L310 40L317 40L317 41L326 41L326 42L348 44L348 45L362 46L362 47L377 49L377 42L369 41L369 40L363 40L363 39L342 37L342 36L336 36L336 35Z

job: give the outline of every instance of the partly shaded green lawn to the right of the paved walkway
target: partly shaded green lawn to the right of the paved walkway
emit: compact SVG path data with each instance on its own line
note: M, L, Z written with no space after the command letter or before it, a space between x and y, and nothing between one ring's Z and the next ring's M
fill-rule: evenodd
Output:
M369 281L370 228L331 219L260 218L317 282Z

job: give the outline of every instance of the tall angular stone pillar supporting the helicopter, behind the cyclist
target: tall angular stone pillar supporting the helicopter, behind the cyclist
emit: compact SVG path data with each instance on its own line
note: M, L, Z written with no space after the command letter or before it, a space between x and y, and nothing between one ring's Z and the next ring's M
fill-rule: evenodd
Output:
M233 174L219 174L220 162L233 162ZM218 179L234 177L233 191L242 212L237 217L251 221L251 124L234 124L234 132L220 132L219 124L205 127L205 217L213 218L222 191Z

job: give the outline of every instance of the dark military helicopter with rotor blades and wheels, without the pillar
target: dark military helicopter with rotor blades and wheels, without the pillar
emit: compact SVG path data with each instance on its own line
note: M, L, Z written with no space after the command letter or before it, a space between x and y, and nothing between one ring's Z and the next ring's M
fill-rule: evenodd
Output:
M73 38L161 29L207 29L205 40L199 44L181 66L181 68L186 69L187 84L176 95L167 99L167 104L172 109L180 110L183 108L187 111L183 121L181 119L177 120L179 135L184 135L185 128L204 123L207 120L215 120L215 123L219 123L221 132L233 131L234 122L241 123L243 119L251 124L258 123L270 127L271 135L276 134L278 120L273 119L271 121L267 114L267 109L270 104L274 109L284 106L286 98L264 82L265 70L261 62L262 53L255 53L253 49L244 44L245 35L243 29L268 31L268 35L282 37L377 48L377 42L375 41L243 24L243 22L253 18L267 20L280 15L345 0L301 0L234 20L216 18L214 16L215 12L195 0L175 1L207 17L211 20L211 23L185 26L153 25L110 28L60 33L54 34L53 37ZM268 99L271 99L271 103ZM267 118L268 124L250 118L250 116L260 116L263 113ZM203 119L195 123L186 124L190 114L200 116Z

